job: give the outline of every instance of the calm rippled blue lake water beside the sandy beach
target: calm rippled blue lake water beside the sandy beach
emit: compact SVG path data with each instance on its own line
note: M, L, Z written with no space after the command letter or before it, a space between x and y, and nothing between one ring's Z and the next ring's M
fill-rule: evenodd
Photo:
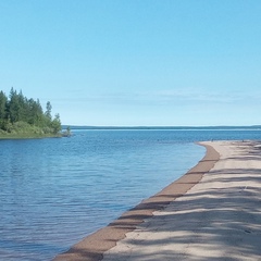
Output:
M51 260L185 174L194 141L258 130L80 130L0 140L0 260Z

